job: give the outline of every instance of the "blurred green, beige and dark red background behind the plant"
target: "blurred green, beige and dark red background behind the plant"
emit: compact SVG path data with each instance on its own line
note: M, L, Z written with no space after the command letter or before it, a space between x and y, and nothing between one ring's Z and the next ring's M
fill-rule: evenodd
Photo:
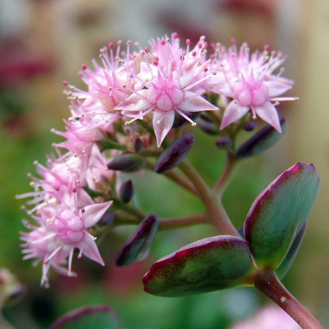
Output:
M312 6L306 0L0 0L0 267L28 287L22 300L5 308L5 316L18 329L42 329L76 307L105 302L127 329L215 329L227 328L268 302L249 288L185 298L142 291L141 277L154 261L216 235L210 225L161 232L146 260L124 268L116 267L114 259L134 227L118 228L99 245L105 267L85 257L75 259L78 277L52 272L48 290L39 287L41 265L21 260L18 232L25 230L21 219L26 214L14 196L31 190L26 173L34 172L33 161L44 164L45 155L53 152L51 144L61 140L49 130L63 130L62 118L69 116L62 80L85 88L76 72L108 42L131 39L147 46L147 39L176 31L192 43L206 35L228 45L235 37L251 50L269 43L289 54L285 76L296 81L290 95L300 101L278 108L289 117L287 132L265 154L240 164L224 206L239 227L255 197L280 172L297 161L314 162L322 179L319 195L283 283L329 328L329 61L323 56L329 50L328 22L325 0ZM190 161L212 185L224 166L224 152L215 148L214 137L197 127L186 129L196 137ZM241 140L246 137L242 134ZM171 217L203 211L194 196L160 175L128 177L134 182L134 200L146 213Z

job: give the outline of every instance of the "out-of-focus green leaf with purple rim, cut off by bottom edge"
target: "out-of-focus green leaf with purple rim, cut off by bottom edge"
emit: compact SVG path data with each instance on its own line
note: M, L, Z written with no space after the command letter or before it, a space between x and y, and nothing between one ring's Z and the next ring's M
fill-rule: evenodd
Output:
M107 305L83 306L59 317L49 329L117 329L117 314Z

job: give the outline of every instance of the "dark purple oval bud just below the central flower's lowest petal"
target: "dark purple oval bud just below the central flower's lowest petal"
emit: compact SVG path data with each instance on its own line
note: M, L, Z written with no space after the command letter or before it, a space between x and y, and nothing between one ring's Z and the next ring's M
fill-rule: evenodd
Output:
M194 136L186 134L174 140L160 155L154 165L154 170L158 174L164 174L178 164L189 154L194 144Z

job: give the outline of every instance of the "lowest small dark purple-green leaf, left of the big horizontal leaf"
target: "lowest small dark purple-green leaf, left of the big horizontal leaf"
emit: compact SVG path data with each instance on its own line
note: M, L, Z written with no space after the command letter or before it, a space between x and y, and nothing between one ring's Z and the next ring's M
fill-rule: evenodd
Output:
M119 251L115 264L117 266L125 266L145 259L149 253L150 244L157 232L158 225L157 215L151 214L145 217Z

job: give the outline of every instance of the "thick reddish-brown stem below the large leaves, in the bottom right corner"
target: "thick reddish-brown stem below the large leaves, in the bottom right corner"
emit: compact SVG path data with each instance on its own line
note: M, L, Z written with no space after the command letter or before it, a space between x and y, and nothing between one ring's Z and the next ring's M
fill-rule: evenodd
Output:
M303 329L323 329L316 318L283 286L275 272L266 270L258 272L255 288L272 299Z

